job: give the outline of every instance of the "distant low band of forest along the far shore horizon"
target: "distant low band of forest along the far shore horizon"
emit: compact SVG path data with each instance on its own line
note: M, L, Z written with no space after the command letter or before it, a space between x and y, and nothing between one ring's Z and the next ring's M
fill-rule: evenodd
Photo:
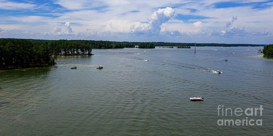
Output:
M35 41L35 42L40 42L40 43L44 43L45 41L50 41L50 40L38 40L38 39L26 39L26 40L31 40L31 41ZM81 43L81 44L88 44L88 45L92 45L93 48L99 48L101 49L102 47L104 48L113 48L113 42L112 41L96 41L96 40L66 40L68 42L77 42L77 43ZM138 46L140 43L142 42L127 42L127 41L123 41L123 42L115 42L115 48L118 48L118 46L116 46L117 43L123 44L122 47L125 48L130 48L133 47L133 45ZM153 43L154 46L194 46L194 43L169 43L169 42L150 42ZM124 45L125 44L125 45ZM215 43L196 43L196 46L220 46L220 47L237 47L237 46L265 46L265 44L215 44ZM120 47L120 46L119 46Z

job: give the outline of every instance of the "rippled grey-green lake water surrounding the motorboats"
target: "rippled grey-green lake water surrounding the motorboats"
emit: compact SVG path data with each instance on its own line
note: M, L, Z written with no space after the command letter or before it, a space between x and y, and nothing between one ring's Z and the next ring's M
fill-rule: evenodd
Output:
M0 71L0 135L268 135L273 59L259 49L97 49L51 67ZM189 100L198 95L204 101ZM218 116L218 105L232 116ZM262 116L234 115L260 105ZM217 125L246 117L262 125Z

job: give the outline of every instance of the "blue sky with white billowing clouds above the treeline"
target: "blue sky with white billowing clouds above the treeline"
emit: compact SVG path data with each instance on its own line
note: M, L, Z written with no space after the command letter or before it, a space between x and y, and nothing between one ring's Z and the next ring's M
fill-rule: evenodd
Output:
M0 38L272 44L273 0L0 0Z

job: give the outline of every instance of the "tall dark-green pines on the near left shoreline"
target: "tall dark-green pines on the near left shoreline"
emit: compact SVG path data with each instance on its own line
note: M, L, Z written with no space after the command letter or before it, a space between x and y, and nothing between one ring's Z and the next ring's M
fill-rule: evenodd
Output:
M86 44L45 41L33 42L24 39L0 38L0 69L26 68L54 65L56 55L88 54L91 46Z

